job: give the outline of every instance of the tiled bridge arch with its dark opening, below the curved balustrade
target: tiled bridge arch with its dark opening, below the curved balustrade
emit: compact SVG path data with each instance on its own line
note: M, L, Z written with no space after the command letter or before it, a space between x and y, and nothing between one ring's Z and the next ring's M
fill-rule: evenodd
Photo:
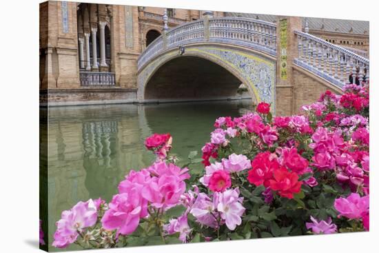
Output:
M149 101L236 97L244 83L254 101L275 103L276 63L247 50L222 45L187 45L170 50L138 74L138 99ZM273 106L275 108L275 106Z

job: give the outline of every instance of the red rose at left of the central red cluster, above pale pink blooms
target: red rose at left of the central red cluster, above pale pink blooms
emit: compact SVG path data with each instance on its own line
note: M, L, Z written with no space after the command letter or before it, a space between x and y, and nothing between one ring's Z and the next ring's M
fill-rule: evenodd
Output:
M272 172L280 167L276 155L270 152L262 152L255 156L252 161L252 170L249 170L247 180L256 186L269 185Z

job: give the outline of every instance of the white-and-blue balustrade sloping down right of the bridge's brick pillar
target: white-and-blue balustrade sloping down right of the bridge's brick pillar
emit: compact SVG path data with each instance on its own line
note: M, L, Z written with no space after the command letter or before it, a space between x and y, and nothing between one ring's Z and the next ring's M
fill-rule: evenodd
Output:
M369 59L305 32L295 31L298 57L294 63L342 88L369 81Z

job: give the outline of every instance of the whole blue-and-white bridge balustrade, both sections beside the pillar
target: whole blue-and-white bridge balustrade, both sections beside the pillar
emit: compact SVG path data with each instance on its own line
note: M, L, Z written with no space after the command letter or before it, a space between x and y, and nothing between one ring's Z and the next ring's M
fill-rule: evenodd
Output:
M294 64L342 88L369 81L369 59L311 34L295 31L298 55ZM276 24L243 17L216 17L184 23L155 39L138 59L141 70L162 52L193 43L242 45L276 57Z

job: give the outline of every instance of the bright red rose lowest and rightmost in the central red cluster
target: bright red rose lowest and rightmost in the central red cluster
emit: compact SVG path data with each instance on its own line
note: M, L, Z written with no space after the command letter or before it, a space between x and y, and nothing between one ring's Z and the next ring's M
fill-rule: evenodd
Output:
M285 168L274 170L274 179L269 180L269 187L288 199L294 199L294 193L300 192L301 185L298 174L289 172Z

